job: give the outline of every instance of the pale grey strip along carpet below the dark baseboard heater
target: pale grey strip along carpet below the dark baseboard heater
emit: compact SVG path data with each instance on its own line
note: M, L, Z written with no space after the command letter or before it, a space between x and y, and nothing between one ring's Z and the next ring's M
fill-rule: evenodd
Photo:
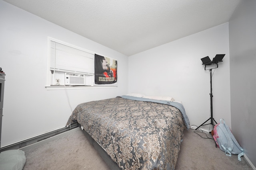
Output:
M66 136L66 135L69 135L70 133L74 133L74 132L79 131L79 130L80 130L80 128L79 128L79 127L76 127L76 128L74 128L74 129L71 129L70 131L66 131L66 132L64 132L64 133L60 133L59 135L55 135L55 136L53 136L53 137L44 139L44 140L39 141L39 142L37 142L37 143L33 143L33 144L28 145L28 146L26 146L26 147L20 148L20 150L23 150L24 152L26 152L26 151L28 151L28 150L30 150L30 149L34 149L35 147L38 147L38 146L40 146L40 145L43 145L43 144L48 143L48 142L50 142L50 141L53 141L53 140L55 140L55 139L59 139L60 137L64 137L64 136Z

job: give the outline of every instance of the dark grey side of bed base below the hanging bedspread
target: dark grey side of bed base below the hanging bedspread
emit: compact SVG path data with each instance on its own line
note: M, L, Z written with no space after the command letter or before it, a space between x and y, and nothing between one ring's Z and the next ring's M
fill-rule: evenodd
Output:
M78 125L81 128L81 125L79 123ZM102 159L106 162L106 164L111 170L121 170L117 163L114 162L114 160L112 160L112 158L107 154L107 152L85 130L82 130L82 132L84 133L86 139L88 139L88 141L94 147L94 149L97 150L97 152L100 154Z

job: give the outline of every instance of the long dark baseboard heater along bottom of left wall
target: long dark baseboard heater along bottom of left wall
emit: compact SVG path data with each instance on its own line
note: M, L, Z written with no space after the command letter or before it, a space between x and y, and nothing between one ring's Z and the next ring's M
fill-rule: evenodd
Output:
M48 132L48 133L44 133L42 135L38 135L37 137L33 137L33 138L26 139L26 140L18 142L18 143L14 143L12 145L8 145L6 147L2 147L0 150L2 152L2 151L5 151L5 150L20 149L20 148L26 147L28 145L32 145L34 143L43 141L43 140L48 139L50 137L53 137L55 135L59 135L59 134L64 133L66 131L70 131L71 129L74 129L76 127L78 127L78 123L73 123L68 127L63 127L61 129L57 129L55 131L51 131L51 132Z

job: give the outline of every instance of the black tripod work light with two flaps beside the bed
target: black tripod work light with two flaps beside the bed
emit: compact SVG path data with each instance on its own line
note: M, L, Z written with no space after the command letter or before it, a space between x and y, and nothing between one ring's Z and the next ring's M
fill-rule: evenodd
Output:
M218 63L222 62L222 59L223 59L224 56L225 56L225 54L217 54L212 59L212 61L208 56L201 59L201 61L203 62L203 65L205 65L204 70L209 70L210 71L210 86L211 86L211 92L210 92L211 109L210 109L210 112L211 112L211 117L204 122L204 123L206 123L207 121L210 120L210 123L208 123L208 124L202 123L200 126L198 126L196 128L196 130L199 127L201 127L202 125L212 125L212 129L213 129L214 128L214 122L217 124L217 122L214 120L213 114L212 114L212 97L213 97L213 95L212 95L212 69L218 68ZM214 68L206 69L206 66L213 65L213 64L216 64ZM211 133L211 132L209 132L209 133Z

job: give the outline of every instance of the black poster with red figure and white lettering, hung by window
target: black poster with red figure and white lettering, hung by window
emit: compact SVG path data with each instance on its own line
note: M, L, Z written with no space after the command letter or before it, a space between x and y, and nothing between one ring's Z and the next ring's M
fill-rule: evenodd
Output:
M117 81L117 61L94 55L95 84L113 84Z

